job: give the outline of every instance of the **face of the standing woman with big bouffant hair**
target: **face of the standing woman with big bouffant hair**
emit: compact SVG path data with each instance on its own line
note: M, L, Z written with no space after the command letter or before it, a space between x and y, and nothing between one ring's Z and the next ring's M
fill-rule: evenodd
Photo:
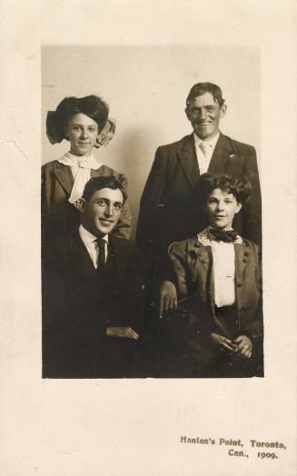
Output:
M65 128L65 136L70 141L70 152L74 155L89 155L98 134L98 124L88 115L74 114Z

